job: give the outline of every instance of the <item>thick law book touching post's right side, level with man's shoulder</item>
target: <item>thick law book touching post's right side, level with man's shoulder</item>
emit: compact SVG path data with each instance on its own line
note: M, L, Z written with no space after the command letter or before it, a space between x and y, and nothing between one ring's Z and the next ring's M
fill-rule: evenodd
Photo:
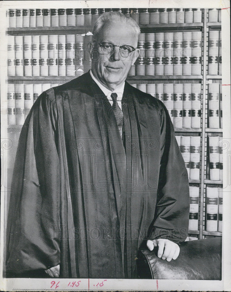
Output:
M209 128L219 128L219 83L208 84Z

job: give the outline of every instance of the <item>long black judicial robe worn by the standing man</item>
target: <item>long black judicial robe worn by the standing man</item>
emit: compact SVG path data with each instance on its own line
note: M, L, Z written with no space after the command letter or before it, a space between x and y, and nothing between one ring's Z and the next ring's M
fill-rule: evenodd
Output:
M168 112L125 82L121 140L89 72L43 92L22 127L6 271L132 278L144 239L188 232L189 189Z

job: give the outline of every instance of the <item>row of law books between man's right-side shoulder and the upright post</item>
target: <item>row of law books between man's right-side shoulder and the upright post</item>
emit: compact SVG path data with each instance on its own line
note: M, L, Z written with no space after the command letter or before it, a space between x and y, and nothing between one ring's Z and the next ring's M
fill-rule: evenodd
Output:
M201 128L200 83L132 84L162 100L175 128Z

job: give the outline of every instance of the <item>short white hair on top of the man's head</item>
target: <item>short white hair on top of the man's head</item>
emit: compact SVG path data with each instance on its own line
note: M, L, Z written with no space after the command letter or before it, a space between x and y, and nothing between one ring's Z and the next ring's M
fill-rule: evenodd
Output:
M96 20L94 27L93 27L93 41L97 41L98 35L100 34L103 27L108 23L123 23L125 27L130 25L131 28L134 30L135 34L137 34L137 38L140 34L140 27L137 25L135 20L131 17L124 16L123 13L118 11L113 12L105 12L99 16Z

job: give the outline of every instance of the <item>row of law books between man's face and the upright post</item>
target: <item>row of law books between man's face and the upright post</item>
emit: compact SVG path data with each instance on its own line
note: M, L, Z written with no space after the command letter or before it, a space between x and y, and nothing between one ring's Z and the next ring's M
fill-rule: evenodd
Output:
M200 75L202 32L141 33L129 75Z

